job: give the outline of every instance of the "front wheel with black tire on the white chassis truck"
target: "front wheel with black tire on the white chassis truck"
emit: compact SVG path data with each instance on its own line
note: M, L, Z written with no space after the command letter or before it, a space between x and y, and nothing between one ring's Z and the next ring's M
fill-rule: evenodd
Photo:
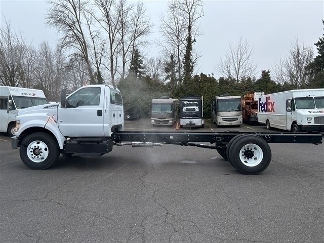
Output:
M32 133L25 137L20 144L19 153L23 163L32 170L48 169L60 156L56 139L43 132Z

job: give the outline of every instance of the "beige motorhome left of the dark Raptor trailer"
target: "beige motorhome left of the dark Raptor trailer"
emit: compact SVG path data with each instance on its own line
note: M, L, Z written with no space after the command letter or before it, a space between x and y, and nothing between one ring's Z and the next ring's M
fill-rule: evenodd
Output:
M152 99L151 124L172 126L178 118L178 106L178 100L167 96Z

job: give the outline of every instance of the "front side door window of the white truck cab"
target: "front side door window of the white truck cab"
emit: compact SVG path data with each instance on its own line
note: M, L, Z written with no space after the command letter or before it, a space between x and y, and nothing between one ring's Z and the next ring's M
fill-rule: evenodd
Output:
M67 100L67 107L78 107L83 105L99 105L101 88L89 87L83 88Z

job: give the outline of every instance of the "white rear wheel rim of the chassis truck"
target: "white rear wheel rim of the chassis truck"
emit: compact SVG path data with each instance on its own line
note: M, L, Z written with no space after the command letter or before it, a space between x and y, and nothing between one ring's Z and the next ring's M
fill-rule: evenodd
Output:
M239 151L239 159L245 166L255 167L259 165L263 159L262 149L254 143L246 144Z

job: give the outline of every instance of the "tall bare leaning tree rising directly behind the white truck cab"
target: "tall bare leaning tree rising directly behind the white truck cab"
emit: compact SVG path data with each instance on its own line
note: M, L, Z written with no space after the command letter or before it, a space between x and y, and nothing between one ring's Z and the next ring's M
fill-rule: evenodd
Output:
M84 11L87 0L51 0L51 8L47 15L47 24L55 26L63 34L61 38L63 48L73 48L74 55L83 59L88 68L90 84L95 84L88 52L88 42L83 26Z

